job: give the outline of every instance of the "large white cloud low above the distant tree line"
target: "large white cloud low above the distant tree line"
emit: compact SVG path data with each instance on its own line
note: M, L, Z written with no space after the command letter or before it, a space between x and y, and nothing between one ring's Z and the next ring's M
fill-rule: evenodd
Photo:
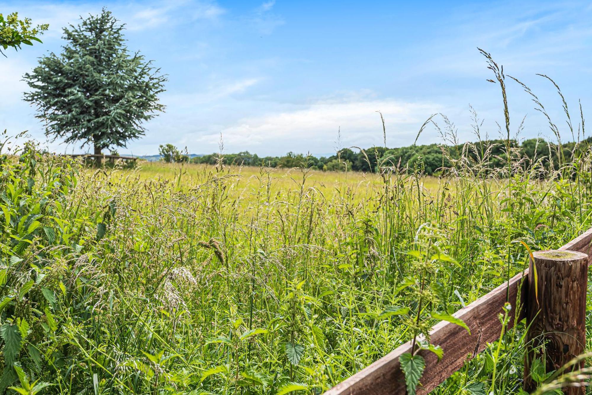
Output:
M229 151L251 149L263 154L276 147L304 152L330 150L341 128L343 145L363 147L382 144L381 111L387 124L387 144L407 145L423 121L442 106L429 102L402 102L395 99L358 101L317 101L281 112L246 117L221 129ZM214 147L220 133L194 136L197 142Z

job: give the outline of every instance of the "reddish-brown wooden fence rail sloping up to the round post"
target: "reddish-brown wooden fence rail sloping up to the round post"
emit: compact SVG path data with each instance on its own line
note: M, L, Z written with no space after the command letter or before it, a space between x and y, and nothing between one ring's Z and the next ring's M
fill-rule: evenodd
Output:
M592 229L568 242L559 250L578 251L590 255L592 244ZM588 258L590 264L590 258ZM506 300L513 308L516 307L517 292L522 289L520 300L525 300L526 286L519 287L527 280L528 270L514 276L499 287L480 297L470 305L463 307L453 314L462 319L471 329L469 334L464 328L449 322L437 323L430 332L430 341L439 345L444 351L441 361L433 352L419 351L419 355L426 361L426 368L422 376L422 386L417 388L417 394L427 394L452 373L459 370L466 361L471 360L485 349L487 343L500 338L501 323L497 316L503 312ZM512 315L514 316L514 315ZM523 313L522 313L523 317ZM512 318L509 328L514 325ZM411 352L411 342L394 349L378 361L350 376L325 392L325 395L403 395L406 393L405 380L399 357Z

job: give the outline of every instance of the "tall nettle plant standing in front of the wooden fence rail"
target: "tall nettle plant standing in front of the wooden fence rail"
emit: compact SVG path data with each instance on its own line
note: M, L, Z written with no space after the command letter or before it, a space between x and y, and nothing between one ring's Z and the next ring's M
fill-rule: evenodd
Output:
M407 251L410 256L410 272L413 277L406 277L397 287L397 292L406 291L412 300L416 300L411 307L389 306L382 313L381 318L388 316L403 316L404 323L413 335L411 352L401 355L401 370L405 374L407 393L414 395L422 378L426 362L420 350L428 350L437 355L438 360L444 355L439 345L430 343L430 329L433 320L445 320L462 326L469 333L468 326L449 312L446 300L446 289L439 281L439 267L442 264L458 265L447 254L449 245L445 234L435 224L426 223L419 227L414 238L414 250Z

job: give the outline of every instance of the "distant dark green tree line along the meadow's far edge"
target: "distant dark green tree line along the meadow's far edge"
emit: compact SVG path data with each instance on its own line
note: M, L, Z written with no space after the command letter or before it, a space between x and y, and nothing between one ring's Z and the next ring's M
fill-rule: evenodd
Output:
M530 138L519 143L510 140L513 160L525 160L527 164L540 161L544 169L557 169L561 163L570 163L573 156L583 153L590 147L592 137L580 143L564 143L561 145L548 143L542 138ZM408 147L385 148L370 147L365 150L344 148L329 157L314 157L289 152L284 156L260 157L243 151L237 154L208 154L189 158L180 153L172 144L160 146L161 160L166 162L187 161L215 165L218 163L238 166L268 167L308 167L323 171L365 171L373 173L382 167L400 167L419 169L426 174L438 174L442 169L455 166L460 158L474 163L485 164L490 169L501 169L507 166L507 144L504 140L479 141L477 143L458 145L410 145Z

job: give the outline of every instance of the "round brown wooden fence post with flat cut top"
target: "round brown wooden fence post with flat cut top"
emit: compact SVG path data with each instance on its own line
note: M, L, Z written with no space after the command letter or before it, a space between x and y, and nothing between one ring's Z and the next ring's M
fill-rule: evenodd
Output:
M537 251L530 261L525 303L530 329L526 336L524 389L533 391L530 376L535 358L545 358L546 371L558 370L584 352L588 255L577 251ZM536 271L533 270L536 267ZM575 365L574 370L584 367ZM584 394L584 387L564 388L565 394Z

